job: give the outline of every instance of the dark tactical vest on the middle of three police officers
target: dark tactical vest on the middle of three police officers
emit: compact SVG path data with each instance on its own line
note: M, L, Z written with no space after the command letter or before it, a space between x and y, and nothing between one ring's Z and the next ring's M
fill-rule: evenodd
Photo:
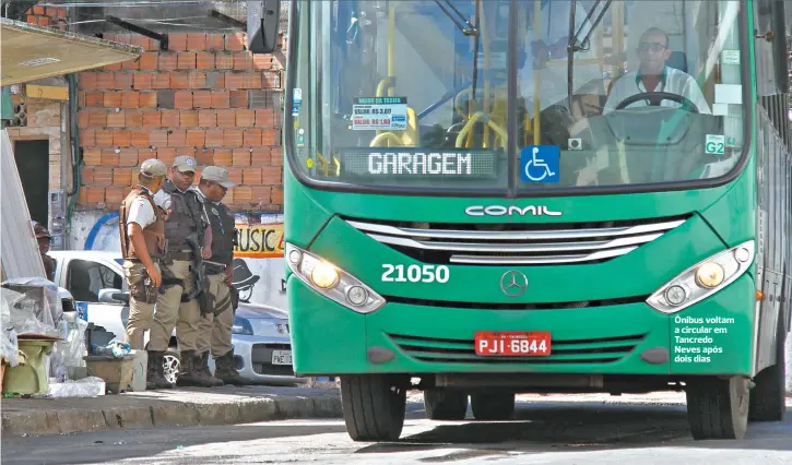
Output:
M194 192L180 192L167 180L163 190L170 194L170 211L165 222L165 237L168 240L168 252L191 251L187 238L198 234L198 243L203 246L203 222L201 222L201 204Z

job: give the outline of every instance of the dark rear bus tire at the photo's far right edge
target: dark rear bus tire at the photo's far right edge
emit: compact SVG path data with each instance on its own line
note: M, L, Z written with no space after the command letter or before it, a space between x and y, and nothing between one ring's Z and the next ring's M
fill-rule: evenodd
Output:
M749 421L783 421L787 410L787 331L783 318L779 319L776 333L776 365L766 367L754 378L756 385L750 390Z

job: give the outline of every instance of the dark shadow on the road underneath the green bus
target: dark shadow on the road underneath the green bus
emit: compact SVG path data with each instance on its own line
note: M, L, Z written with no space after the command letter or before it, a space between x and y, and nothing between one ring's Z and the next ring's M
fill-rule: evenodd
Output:
M743 441L694 441L684 406L542 403L518 404L512 421L478 422L468 412L462 421L444 421L398 442L377 443L356 453L399 453L468 449L445 460L465 460L505 452L601 451L685 446L792 451L792 408L783 424L750 424ZM414 410L409 418L423 418ZM444 461L445 461L444 460Z

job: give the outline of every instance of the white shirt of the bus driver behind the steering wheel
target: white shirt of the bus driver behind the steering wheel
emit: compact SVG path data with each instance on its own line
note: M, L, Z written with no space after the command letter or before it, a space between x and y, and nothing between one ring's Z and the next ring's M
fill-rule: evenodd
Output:
M676 94L683 96L693 102L700 114L711 115L707 99L704 98L704 93L699 88L696 80L684 71L679 71L675 68L665 67L665 78L661 80L658 87L653 92L667 92L670 94ZM605 106L602 109L602 114L610 114L615 110L618 104L624 102L626 98L634 95L643 94L647 92L643 82L638 79L638 71L630 71L627 74L619 78L611 90L611 95L605 102ZM626 106L626 108L646 107L649 103L647 100L634 102ZM663 107L679 108L682 105L674 100L662 100L660 103Z

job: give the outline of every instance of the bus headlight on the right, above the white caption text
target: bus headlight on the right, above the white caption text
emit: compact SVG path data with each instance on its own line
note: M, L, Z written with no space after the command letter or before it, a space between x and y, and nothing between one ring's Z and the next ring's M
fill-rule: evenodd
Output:
M648 299L652 308L663 313L676 313L706 299L738 278L754 262L755 242L718 252L682 272Z

